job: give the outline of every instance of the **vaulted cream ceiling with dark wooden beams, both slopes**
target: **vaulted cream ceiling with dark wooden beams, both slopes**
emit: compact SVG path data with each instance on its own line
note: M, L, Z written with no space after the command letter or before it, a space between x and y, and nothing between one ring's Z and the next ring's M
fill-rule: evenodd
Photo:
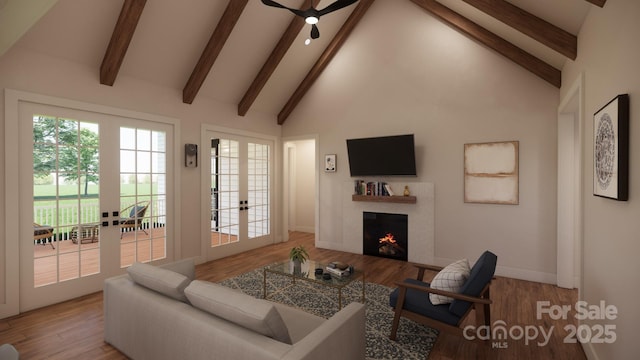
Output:
M34 24L20 44L94 66L101 84L117 87L119 76L131 76L181 89L187 104L213 98L236 103L240 116L252 110L277 114L279 124L376 6L375 0L359 0L322 17L320 38L305 46L310 26L302 18L258 0L38 0L42 6L28 10L21 1L0 1L0 19L16 11L32 14ZM587 13L606 2L382 1L413 2L416 12L440 19L555 87L564 63L576 58ZM333 0L280 2L323 8ZM46 12L39 21L38 11ZM0 25L0 32L7 26Z

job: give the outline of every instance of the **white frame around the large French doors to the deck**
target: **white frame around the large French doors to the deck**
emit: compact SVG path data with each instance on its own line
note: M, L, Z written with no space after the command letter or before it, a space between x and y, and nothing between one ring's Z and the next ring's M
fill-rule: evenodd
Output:
M20 227L20 177L17 171L8 171L8 169L17 169L19 166L19 156L17 149L19 148L19 107L21 102L37 103L42 105L57 106L74 110L81 110L93 113L102 113L111 116L128 117L138 120L146 120L151 122L164 123L173 128L173 149L168 149L174 154L175 162L178 163L178 154L180 154L180 121L175 118L148 114L138 111L125 110L116 107L98 105L83 101L76 101L64 98L58 98L49 95L41 95L31 92L5 89L5 224L16 224L15 226L5 226L5 276L4 289L0 283L0 319L20 313L20 256L19 240L21 235ZM180 230L180 212L178 211L180 202L180 169L175 169L173 174L173 209L174 226L170 229L173 238L174 258L181 258L181 240L178 234ZM29 235L32 236L32 235ZM4 294L2 294L4 291ZM4 296L3 296L4 295ZM2 301L4 299L4 301Z

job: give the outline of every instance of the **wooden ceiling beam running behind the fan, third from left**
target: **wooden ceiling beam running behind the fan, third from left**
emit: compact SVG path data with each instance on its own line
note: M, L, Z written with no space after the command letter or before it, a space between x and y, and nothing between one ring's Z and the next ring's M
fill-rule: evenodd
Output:
M301 9L308 9L310 6L315 8L318 6L318 3L320 3L320 0L306 0ZM269 81L271 75L273 75L273 72L284 58L284 55L291 47L293 41L296 39L304 25L305 21L303 18L300 16L293 16L293 20L289 23L287 30L282 34L280 41L278 41L278 44L276 44L271 55L269 55L267 61L262 65L262 69L260 69L258 75L253 79L251 86L249 86L249 89L242 97L242 100L240 100L240 103L238 104L239 116L245 116L247 114L247 111L249 111L249 108L253 105L253 102L260 94L260 91L262 91L262 88L265 86L267 81Z

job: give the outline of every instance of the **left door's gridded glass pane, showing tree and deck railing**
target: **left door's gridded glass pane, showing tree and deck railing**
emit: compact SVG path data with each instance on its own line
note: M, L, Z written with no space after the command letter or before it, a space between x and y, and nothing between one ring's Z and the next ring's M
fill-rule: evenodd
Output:
M32 119L33 281L39 287L100 272L100 131L87 121Z

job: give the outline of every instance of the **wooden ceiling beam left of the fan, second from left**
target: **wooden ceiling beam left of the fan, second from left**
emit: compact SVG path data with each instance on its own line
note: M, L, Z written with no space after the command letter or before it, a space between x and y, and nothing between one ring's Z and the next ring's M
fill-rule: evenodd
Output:
M220 18L213 34L211 34L207 46L202 51L202 55L193 69L189 81L187 81L182 90L182 102L185 104L193 103L248 2L249 0L229 1L222 18Z

